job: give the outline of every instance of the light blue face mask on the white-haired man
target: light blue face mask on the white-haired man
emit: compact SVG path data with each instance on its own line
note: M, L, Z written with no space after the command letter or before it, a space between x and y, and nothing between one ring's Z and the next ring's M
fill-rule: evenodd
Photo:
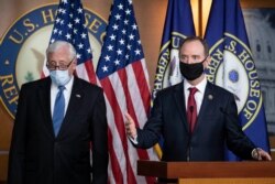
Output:
M72 78L69 76L68 69L66 69L66 71L51 71L50 77L52 78L52 82L54 84L56 84L57 86L65 86Z

